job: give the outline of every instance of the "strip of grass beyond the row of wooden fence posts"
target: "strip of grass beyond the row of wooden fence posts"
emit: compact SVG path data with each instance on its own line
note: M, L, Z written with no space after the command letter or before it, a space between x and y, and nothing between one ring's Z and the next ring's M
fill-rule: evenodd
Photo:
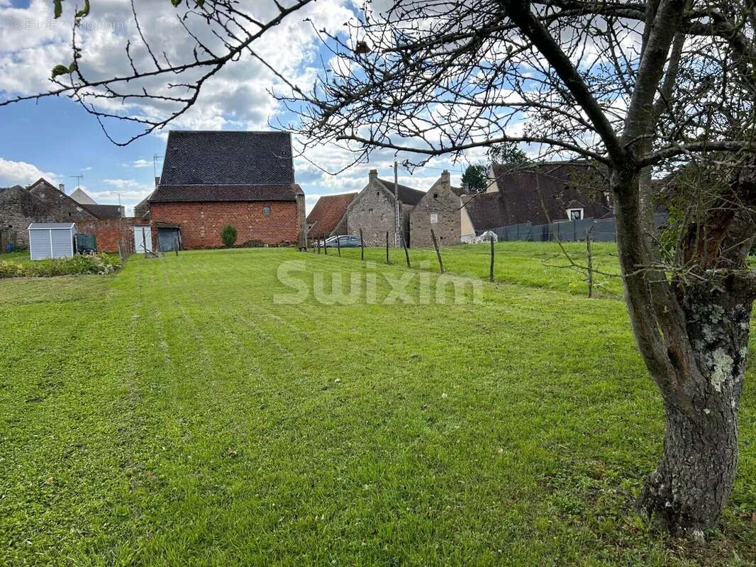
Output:
M564 243L567 253L578 266L586 266L585 243ZM606 274L619 274L617 246L614 243L593 243L594 291L597 295L618 297L622 294L622 280ZM311 251L311 253L313 253ZM328 249L329 255L337 255L336 249ZM410 249L413 268L438 271L438 260L433 249ZM359 259L359 248L345 248L342 258ZM441 249L446 271L469 274L488 280L491 266L490 244L463 244L445 246ZM385 248L365 249L365 259L386 263ZM389 248L389 261L405 265L403 249ZM544 287L548 290L563 290L585 295L587 280L585 271L575 268L556 243L500 242L494 249L494 280L519 283L528 287Z

